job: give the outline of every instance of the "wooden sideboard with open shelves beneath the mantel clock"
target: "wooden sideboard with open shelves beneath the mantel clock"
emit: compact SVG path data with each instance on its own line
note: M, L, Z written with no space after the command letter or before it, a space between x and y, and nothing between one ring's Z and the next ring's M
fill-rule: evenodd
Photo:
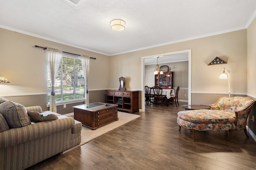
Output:
M106 103L117 104L119 111L139 111L139 91L106 90Z

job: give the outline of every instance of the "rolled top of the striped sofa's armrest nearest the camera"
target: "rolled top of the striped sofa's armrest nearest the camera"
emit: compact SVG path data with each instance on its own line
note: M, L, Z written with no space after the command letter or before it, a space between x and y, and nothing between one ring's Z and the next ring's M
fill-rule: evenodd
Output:
M0 149L39 139L66 129L70 129L71 133L74 123L75 121L72 117L65 117L8 129L7 131L0 132Z

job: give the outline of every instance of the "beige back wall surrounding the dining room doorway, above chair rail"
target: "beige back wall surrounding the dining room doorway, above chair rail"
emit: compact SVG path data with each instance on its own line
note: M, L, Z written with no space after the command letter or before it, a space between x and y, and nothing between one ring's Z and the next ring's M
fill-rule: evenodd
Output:
M228 80L218 78L223 68L226 67L231 71L231 93L246 94L246 29L112 56L110 57L110 88L118 87L118 78L123 76L129 79L126 88L142 90L141 57L187 49L192 50L192 93L227 94ZM226 61L227 64L208 66L216 56ZM199 100L204 100L201 95L197 97ZM198 100L198 98L194 99L192 95L192 103L193 100Z

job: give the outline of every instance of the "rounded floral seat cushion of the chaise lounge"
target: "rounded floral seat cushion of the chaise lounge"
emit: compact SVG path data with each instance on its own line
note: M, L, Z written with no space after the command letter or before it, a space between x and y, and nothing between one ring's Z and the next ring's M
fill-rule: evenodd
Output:
M234 123L236 114L225 110L186 110L178 112L180 119L194 123Z

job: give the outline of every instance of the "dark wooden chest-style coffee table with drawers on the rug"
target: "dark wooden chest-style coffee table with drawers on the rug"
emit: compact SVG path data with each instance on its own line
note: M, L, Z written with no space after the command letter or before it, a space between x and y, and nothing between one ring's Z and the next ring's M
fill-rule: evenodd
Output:
M95 130L118 120L117 106L100 102L74 106L74 119Z

